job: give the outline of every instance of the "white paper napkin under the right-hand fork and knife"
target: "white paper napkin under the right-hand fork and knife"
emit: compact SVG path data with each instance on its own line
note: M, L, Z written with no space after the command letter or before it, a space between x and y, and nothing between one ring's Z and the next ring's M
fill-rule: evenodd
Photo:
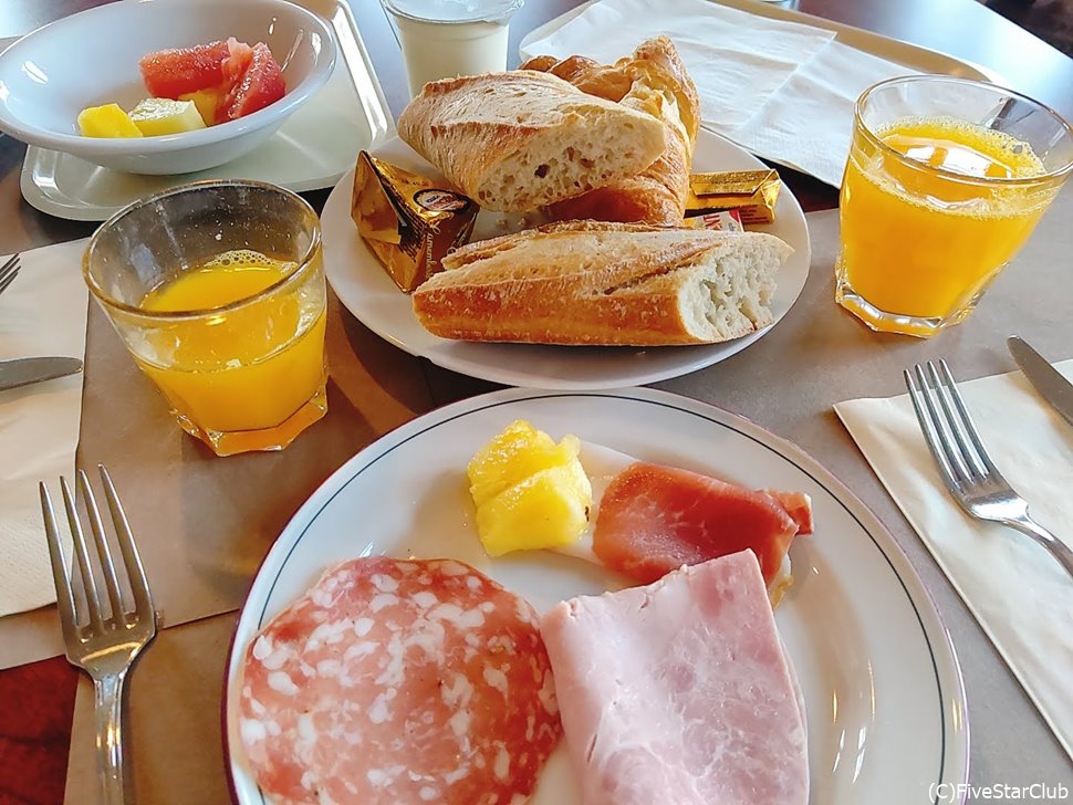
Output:
M1073 360L1055 368L1073 378ZM1032 516L1073 546L1073 428L1019 372L959 386L996 467ZM840 402L835 411L1073 756L1073 579L1028 536L958 508L908 395Z

